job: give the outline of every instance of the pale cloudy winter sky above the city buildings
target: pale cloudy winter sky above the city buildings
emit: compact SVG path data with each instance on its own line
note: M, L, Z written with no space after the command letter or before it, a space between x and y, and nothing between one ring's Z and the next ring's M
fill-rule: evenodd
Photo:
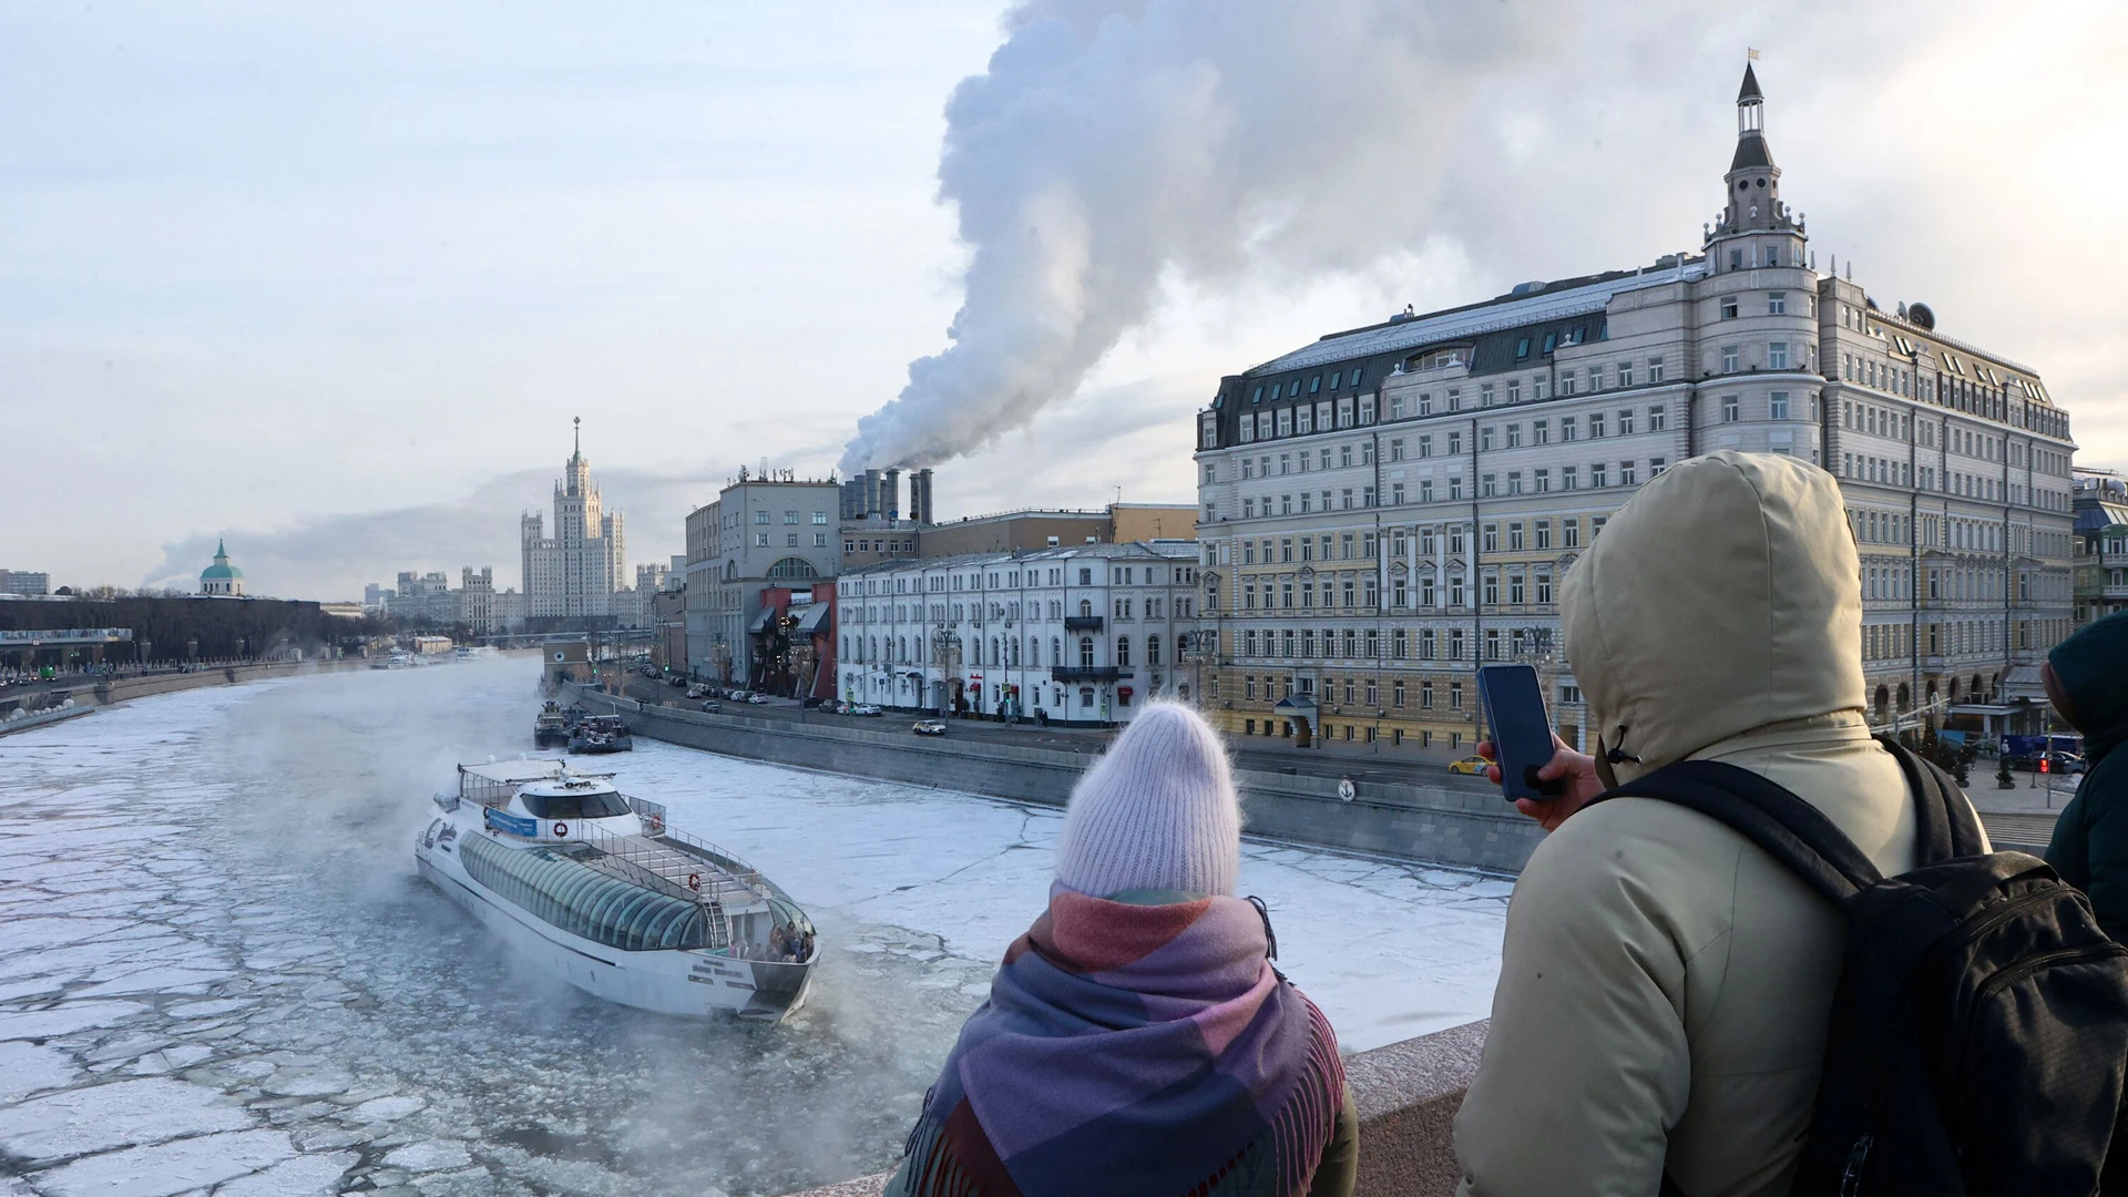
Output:
M1060 305L941 515L1185 503L1226 373L1696 249L1747 47L1819 264L2128 466L2109 4L0 0L0 569L513 586L577 415L662 562ZM985 281L1060 209L1085 277Z

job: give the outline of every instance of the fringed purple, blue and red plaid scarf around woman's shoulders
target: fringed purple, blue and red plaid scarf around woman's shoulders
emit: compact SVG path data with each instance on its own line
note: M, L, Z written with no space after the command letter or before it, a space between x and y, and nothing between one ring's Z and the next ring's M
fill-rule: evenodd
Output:
M1004 952L909 1135L913 1197L1304 1193L1345 1093L1247 901L1062 886Z

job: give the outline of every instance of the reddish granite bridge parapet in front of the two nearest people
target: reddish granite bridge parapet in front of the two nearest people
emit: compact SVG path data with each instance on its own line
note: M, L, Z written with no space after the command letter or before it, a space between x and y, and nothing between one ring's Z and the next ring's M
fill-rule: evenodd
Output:
M1451 1142L1456 1112L1485 1050L1485 1022L1449 1027L1345 1056L1360 1114L1356 1197L1451 1197L1462 1169ZM792 1197L879 1197L887 1174Z

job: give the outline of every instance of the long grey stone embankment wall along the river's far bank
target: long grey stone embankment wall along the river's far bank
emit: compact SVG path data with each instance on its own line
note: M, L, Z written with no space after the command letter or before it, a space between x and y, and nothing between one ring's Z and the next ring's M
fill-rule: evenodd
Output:
M581 690L589 709L621 716L634 735L726 756L826 769L915 786L938 786L994 799L1064 805L1092 754L1002 743L919 739L907 731L875 731L834 716L819 722L643 707ZM1379 856L1517 871L1543 835L1534 822L1490 794L1434 786L1366 782L1351 801L1336 777L1236 771L1247 831L1321 848Z

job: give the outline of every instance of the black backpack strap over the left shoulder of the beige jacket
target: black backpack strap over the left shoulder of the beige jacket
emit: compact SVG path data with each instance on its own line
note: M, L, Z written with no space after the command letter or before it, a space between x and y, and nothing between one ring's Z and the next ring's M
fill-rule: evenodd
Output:
M1830 818L1726 760L1679 760L1590 799L1662 799L1728 824L1834 903L1883 880Z

